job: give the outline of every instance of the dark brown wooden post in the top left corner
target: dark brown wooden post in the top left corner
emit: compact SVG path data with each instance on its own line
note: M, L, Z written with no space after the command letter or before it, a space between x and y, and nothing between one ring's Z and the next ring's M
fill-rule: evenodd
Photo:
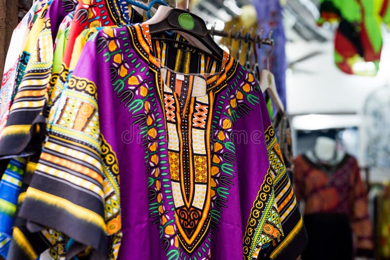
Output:
M12 32L18 25L18 0L0 0L0 72L4 71L5 57Z

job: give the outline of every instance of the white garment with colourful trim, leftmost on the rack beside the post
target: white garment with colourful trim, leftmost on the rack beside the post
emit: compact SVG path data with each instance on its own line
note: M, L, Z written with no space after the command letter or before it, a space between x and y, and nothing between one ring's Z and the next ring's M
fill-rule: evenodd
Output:
M46 2L47 0L36 1L12 34L7 57L5 59L4 74L0 90L0 134L8 119L14 90L17 87L17 77L24 73L26 60L28 60L29 57L28 51L25 50L22 53L24 45L27 42L33 24Z

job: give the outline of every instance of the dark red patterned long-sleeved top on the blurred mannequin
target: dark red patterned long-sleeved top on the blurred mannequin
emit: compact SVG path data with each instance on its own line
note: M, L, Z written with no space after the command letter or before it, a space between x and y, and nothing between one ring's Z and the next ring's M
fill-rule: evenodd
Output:
M347 154L338 165L327 168L300 155L295 158L294 177L296 197L305 201L304 214L347 216L358 241L357 255L372 256L373 228L368 215L367 191L356 159Z

